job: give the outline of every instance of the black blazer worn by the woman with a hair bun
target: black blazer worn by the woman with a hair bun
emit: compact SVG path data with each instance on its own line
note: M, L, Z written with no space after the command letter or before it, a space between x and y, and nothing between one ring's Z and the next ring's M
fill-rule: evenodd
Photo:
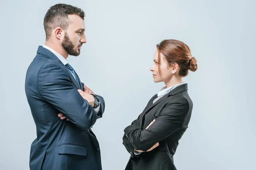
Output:
M126 127L123 144L131 157L125 170L176 170L173 155L183 133L188 127L193 103L187 84L178 86L154 104L154 95L140 116ZM153 120L155 122L145 129ZM150 152L134 155L134 149Z

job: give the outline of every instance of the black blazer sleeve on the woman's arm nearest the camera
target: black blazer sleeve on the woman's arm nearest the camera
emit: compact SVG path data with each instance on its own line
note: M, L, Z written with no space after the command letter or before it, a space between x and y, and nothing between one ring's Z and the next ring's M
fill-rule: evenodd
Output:
M141 130L136 125L130 125L125 128L124 132L134 148L146 151L175 131L184 128L183 122L188 111L189 103L187 99L178 98L169 102L163 108L160 115L148 129Z

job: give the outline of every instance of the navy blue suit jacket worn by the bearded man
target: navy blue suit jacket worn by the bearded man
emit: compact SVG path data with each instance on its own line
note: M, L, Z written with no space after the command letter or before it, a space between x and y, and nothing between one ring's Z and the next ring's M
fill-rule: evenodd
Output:
M83 99L73 74L51 51L38 47L26 73L26 97L36 125L31 170L102 170L99 143L90 130L102 117ZM69 119L61 120L58 113Z

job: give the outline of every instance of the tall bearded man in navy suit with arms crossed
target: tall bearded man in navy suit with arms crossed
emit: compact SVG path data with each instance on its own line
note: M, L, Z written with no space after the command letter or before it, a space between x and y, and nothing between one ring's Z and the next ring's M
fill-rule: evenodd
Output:
M99 143L90 127L102 117L105 102L81 83L66 60L68 55L78 56L86 43L84 11L56 4L44 17L44 29L45 45L38 47L25 82L37 132L29 167L102 170Z

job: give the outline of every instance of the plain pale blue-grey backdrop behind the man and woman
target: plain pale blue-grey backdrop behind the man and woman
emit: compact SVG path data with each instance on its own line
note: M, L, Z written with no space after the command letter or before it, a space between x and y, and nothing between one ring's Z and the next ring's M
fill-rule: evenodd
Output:
M164 86L149 71L155 45L164 39L185 42L199 65L184 79L194 108L174 156L177 169L255 169L255 1L1 0L0 170L29 169L36 129L24 80L44 44L44 15L55 3L86 13L87 44L68 61L105 98L104 116L93 126L103 170L125 168L123 129Z

